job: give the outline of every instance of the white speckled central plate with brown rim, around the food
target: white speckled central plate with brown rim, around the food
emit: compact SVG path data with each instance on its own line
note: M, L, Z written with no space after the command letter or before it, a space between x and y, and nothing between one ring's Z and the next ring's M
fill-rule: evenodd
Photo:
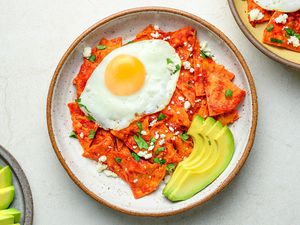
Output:
M124 43L148 24L158 24L171 31L192 26L200 41L209 43L219 63L236 74L234 82L247 91L239 107L240 119L231 126L236 149L227 169L193 198L171 203L162 195L163 184L144 198L134 199L129 186L121 179L96 172L95 163L83 158L78 140L69 138L72 122L67 103L75 98L72 80L82 64L84 46L94 46L102 38L123 37ZM141 216L165 216L183 212L200 205L220 192L244 164L254 141L257 122L257 100L251 73L232 42L206 21L175 9L137 8L123 11L98 22L80 35L67 50L54 73L47 102L47 123L50 139L58 159L74 180L92 198L116 210Z

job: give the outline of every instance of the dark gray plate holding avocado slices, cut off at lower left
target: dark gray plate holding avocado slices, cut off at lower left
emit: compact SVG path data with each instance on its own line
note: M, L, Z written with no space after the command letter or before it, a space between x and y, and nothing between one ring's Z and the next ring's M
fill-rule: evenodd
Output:
M20 224L31 225L33 218L33 202L27 178L16 159L0 145L0 165L9 166L13 174L15 197L9 208L21 211Z

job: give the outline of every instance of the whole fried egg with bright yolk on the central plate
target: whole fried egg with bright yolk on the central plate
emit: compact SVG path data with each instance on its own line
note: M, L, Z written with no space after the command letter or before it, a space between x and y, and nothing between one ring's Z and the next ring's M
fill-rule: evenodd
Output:
M163 40L127 44L97 66L80 96L81 109L104 129L120 130L169 103L181 61Z

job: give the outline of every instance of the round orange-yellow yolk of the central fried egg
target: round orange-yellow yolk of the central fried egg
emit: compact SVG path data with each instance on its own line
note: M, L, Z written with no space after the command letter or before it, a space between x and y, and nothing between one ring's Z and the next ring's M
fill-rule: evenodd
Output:
M132 55L118 55L105 70L106 87L115 95L131 95L142 88L146 70L143 63Z

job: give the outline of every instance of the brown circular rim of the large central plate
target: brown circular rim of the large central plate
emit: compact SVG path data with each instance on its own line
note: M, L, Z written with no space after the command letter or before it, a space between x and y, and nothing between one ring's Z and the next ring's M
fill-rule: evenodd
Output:
M245 74L247 76L247 80L249 82L249 86L250 86L250 92L251 92L251 98L252 98L252 125L251 125L251 129L250 129L250 135L249 135L249 139L246 145L246 148L243 152L242 157L240 158L239 162L237 163L237 165L235 166L235 168L233 169L233 171L227 176L227 178L222 182L222 184L216 189L214 190L210 195L206 196L206 198L197 201L193 204L190 204L182 209L178 209L178 210L173 210L173 211L169 211L169 212L164 212L164 213L144 213L144 212L138 212L138 211L132 211L132 210L127 210L127 209L123 209L120 208L117 205L111 204L108 201L105 201L104 199L100 198L99 196L97 196L96 194L94 194L93 192L91 192L87 187L85 187L83 185L83 183L73 174L73 172L71 171L71 169L68 167L68 165L66 164L66 162L64 161L59 148L57 147L56 144L56 140L54 137L54 132L53 132L53 127L52 127L52 115L51 115L51 111L52 111L52 98L53 98L53 92L56 86L56 81L57 78L60 74L60 71L64 65L64 63L66 62L68 56L70 55L70 53L73 51L73 49L79 44L79 42L86 37L88 34L90 34L92 31L94 31L96 28L110 22L111 20L114 20L116 18L125 16L125 15L130 15L130 14L135 14L135 13L139 13L139 12L165 12L165 13L170 13L170 14L176 14L176 15L180 15L180 16L184 16L186 18L189 18L191 20L196 21L197 23L200 23L201 25L207 27L210 31L212 31L214 34L216 34L217 36L219 36L228 46L229 48L234 52L234 54L236 55L236 57L238 58L239 62L241 63L243 70L245 71ZM257 95L256 95L256 89L255 89L255 84L253 81L253 77L251 75L251 72L247 66L246 61L244 60L243 56L241 55L241 53L238 51L238 49L235 47L235 45L229 40L229 38L220 30L218 30L215 26L213 26L212 24L206 22L205 20L201 19L198 16L195 16L193 14L178 10L178 9L173 9L173 8L166 8L166 7L139 7L139 8L132 8L132 9L127 9L118 13L115 13L111 16L108 16L102 20L100 20L99 22L97 22L96 24L92 25L90 28L88 28L86 31L84 31L72 44L71 46L68 48L68 50L65 52L65 54L63 55L63 57L61 58L61 60L59 61L56 70L53 74L51 83L50 83L50 87L49 87L49 91L48 91L48 97L47 97L47 126L48 126L48 133L50 136L50 140L51 140L51 144L52 147L56 153L57 158L59 159L60 163L62 164L62 166L65 168L65 170L67 171L68 175L70 176L70 178L77 184L78 187L80 187L86 194L88 194L90 197L92 197L94 200L96 200L99 203L102 203L114 210L123 212L123 213L127 213L130 215L135 215L135 216L151 216L151 217L161 217L161 216L170 216L170 215L175 215L178 213L182 213L186 210L189 210L191 208L194 208L196 206L199 206L205 202L207 202L209 199L211 199L212 197L214 197L215 195L217 195L220 191L222 191L231 181L232 179L237 175L237 173L240 171L240 169L242 168L242 166L244 165L244 162L246 161L253 142L254 142L254 138L255 138L255 130L256 130L256 125L257 125L257 116L258 116L258 110L257 110Z

